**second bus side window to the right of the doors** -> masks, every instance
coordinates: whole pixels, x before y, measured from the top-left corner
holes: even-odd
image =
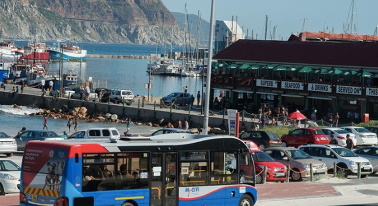
[[[238,183],[237,153],[211,154],[211,185]]]

